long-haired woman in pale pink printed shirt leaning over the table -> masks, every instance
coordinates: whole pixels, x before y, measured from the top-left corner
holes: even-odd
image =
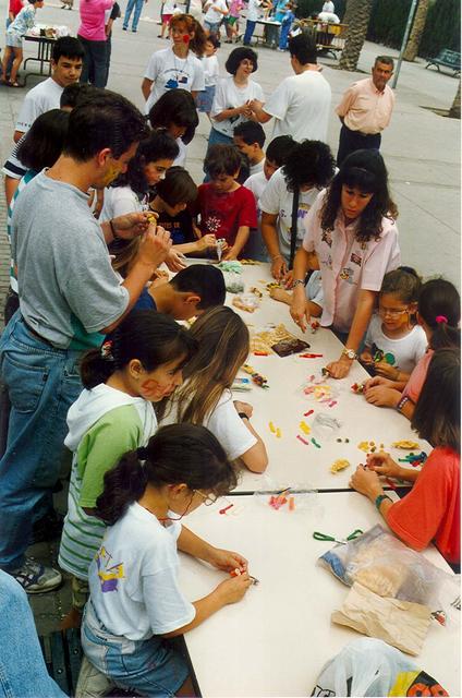
[[[345,344],[340,359],[326,366],[335,378],[348,375],[384,276],[401,263],[397,216],[387,168],[377,151],[352,153],[306,216],[305,237],[294,262],[290,312],[304,332],[309,312],[303,286],[315,261],[323,275],[320,324],[331,327]]]

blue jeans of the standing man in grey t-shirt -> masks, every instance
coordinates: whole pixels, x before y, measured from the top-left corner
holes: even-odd
[[[34,510],[56,484],[68,433],[66,414],[82,392],[81,353],[38,339],[16,312],[0,340],[0,376],[10,422],[0,460],[0,568],[21,566]]]

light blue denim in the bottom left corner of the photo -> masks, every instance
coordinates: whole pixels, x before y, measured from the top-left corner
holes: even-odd
[[[48,675],[26,592],[0,569],[0,697],[65,698]]]

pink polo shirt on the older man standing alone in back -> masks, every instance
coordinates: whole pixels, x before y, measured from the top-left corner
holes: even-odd
[[[360,80],[346,89],[336,109],[345,127],[361,133],[380,133],[390,123],[394,93],[388,85],[377,89],[372,77]]]

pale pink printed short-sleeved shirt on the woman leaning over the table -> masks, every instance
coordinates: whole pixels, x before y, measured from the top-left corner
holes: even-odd
[[[325,196],[326,190],[323,190],[305,217],[303,248],[316,252],[319,261],[324,290],[320,324],[349,332],[360,290],[379,291],[385,274],[401,263],[398,228],[391,218],[382,218],[380,236],[358,242],[355,239],[357,221],[345,226],[340,212],[332,232],[326,232],[319,215]]]

